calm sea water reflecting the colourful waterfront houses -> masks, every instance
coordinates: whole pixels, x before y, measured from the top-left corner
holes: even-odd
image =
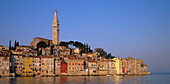
[[[0,84],[170,84],[170,74],[138,76],[3,77]]]

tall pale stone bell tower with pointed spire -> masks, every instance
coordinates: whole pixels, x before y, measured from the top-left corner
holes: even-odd
[[[57,9],[55,9],[54,13],[54,19],[52,23],[53,27],[53,44],[59,45],[59,21],[58,21],[58,16],[57,16]]]

